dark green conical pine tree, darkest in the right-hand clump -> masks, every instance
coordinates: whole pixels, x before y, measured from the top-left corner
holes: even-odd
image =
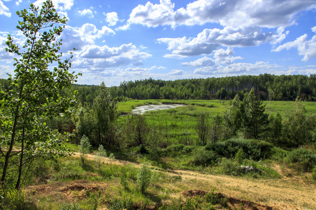
[[[243,108],[243,127],[246,138],[258,139],[260,134],[267,130],[268,114],[265,113],[265,105],[260,97],[255,94],[254,88],[245,94],[242,102]]]

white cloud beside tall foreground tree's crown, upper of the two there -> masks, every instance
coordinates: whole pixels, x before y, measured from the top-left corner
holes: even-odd
[[[66,26],[61,35],[64,40],[62,48],[65,50],[72,50],[73,48],[81,50],[85,45],[94,44],[95,39],[112,34],[115,34],[115,32],[107,26],[97,29],[96,26],[90,23],[85,23],[80,28]]]

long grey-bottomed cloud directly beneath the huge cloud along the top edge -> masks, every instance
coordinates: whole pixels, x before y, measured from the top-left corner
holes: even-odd
[[[167,43],[168,50],[176,55],[200,55],[211,54],[213,50],[223,46],[248,47],[258,46],[264,42],[273,42],[280,36],[272,32],[262,33],[259,27],[231,27],[226,26],[222,30],[204,29],[194,38],[159,38],[158,43]],[[170,57],[170,56],[169,56]]]

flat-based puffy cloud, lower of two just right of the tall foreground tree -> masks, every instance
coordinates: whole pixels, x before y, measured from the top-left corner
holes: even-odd
[[[90,45],[78,53],[79,59],[73,61],[73,68],[110,68],[140,63],[151,54],[140,52],[132,43],[120,47]]]

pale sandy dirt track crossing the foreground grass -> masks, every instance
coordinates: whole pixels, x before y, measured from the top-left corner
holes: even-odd
[[[79,156],[79,153],[75,153]],[[95,159],[94,155],[87,158]],[[109,163],[106,158],[105,163]],[[113,164],[139,164],[123,160],[114,160]],[[276,166],[277,167],[277,166]],[[255,179],[248,177],[235,177],[227,175],[202,174],[196,171],[168,170],[170,175],[180,175],[182,182],[180,189],[202,189],[210,191],[216,187],[216,192],[242,198],[246,201],[257,202],[261,205],[272,206],[281,210],[309,210],[316,209],[316,184],[309,183],[308,179],[301,177],[281,179]],[[182,186],[180,186],[182,185]],[[183,186],[185,185],[185,186]],[[180,195],[173,195],[179,197]]]

